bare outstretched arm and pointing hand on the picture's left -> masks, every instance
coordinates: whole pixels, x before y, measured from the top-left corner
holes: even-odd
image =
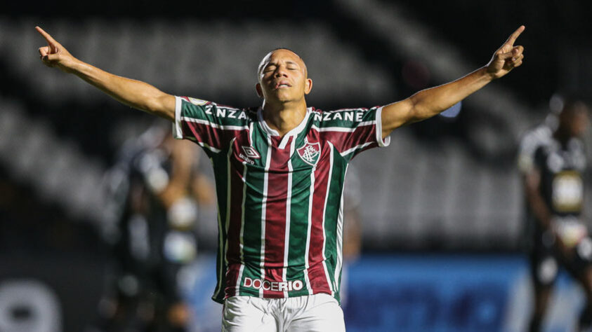
[[[134,109],[151,113],[167,120],[175,118],[175,97],[154,86],[121,76],[116,76],[93,67],[73,57],[60,43],[40,27],[37,32],[44,36],[47,46],[39,48],[41,61],[48,67],[58,67],[96,86],[119,102]]]

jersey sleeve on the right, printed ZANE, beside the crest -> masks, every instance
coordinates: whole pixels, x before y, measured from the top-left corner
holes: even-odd
[[[321,112],[319,131],[335,146],[339,153],[350,160],[369,148],[388,146],[390,137],[382,138],[382,107],[371,109],[340,109]]]

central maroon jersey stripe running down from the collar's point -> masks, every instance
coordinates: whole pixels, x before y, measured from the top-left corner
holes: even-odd
[[[290,137],[284,149],[277,148],[279,137],[272,137],[271,159],[268,173],[268,199],[265,208],[265,280],[282,281],[284,267],[284,238],[286,237],[286,200],[288,197],[288,160]],[[284,292],[263,289],[263,297],[283,298]]]

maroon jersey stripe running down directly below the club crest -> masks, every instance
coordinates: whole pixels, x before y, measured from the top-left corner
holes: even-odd
[[[322,149],[323,154],[318,162],[327,162],[329,164],[329,149],[327,144]],[[323,267],[323,244],[324,244],[324,206],[327,198],[327,189],[329,188],[329,169],[327,167],[317,167],[315,170],[315,192],[313,193],[313,207],[310,216],[310,244],[308,248],[308,279],[313,293],[331,293],[327,275]]]

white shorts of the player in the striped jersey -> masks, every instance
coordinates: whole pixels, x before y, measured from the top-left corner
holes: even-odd
[[[296,298],[232,296],[224,301],[223,332],[345,332],[343,310],[329,294]]]

